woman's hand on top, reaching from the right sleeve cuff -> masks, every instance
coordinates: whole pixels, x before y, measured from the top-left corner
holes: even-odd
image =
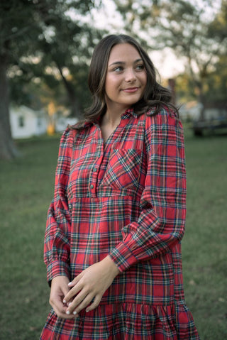
[[[77,316],[93,299],[94,302],[87,307],[86,312],[96,308],[104,292],[109,288],[118,273],[120,271],[109,256],[83,270],[68,285],[71,290],[65,295],[63,302],[65,304],[71,303],[67,307],[66,314],[68,316]]]

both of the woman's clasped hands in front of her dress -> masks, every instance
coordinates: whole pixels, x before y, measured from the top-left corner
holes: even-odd
[[[66,276],[57,276],[52,279],[50,305],[57,316],[64,319],[74,319],[84,308],[89,312],[98,307],[101,297],[118,273],[120,270],[106,256],[104,260],[84,269],[71,283]]]

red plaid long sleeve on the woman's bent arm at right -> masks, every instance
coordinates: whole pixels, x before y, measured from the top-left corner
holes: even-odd
[[[186,172],[181,123],[162,110],[148,116],[145,129],[148,170],[138,221],[123,227],[123,241],[109,256],[121,271],[170,251],[184,235]]]

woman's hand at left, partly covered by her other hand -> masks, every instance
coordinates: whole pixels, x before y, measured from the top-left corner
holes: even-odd
[[[57,317],[62,317],[63,319],[73,319],[74,315],[66,314],[68,305],[65,305],[63,298],[70,291],[68,283],[70,280],[67,276],[56,276],[52,279],[51,290],[50,290],[50,305],[55,310]]]

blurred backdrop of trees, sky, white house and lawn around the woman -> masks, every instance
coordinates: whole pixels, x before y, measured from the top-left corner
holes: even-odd
[[[60,135],[90,102],[110,33],[140,40],[184,124],[186,301],[201,340],[227,339],[227,1],[0,1],[0,339],[39,339],[48,314],[43,236]]]

